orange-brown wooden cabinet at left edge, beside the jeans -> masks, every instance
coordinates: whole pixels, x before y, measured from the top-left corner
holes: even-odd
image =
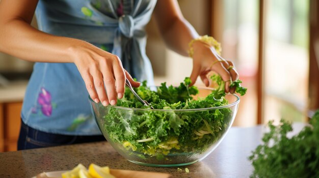
[[[16,151],[20,132],[22,102],[0,104],[0,152]]]

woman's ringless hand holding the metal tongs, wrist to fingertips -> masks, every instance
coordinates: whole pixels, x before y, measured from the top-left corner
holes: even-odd
[[[140,86],[123,68],[119,57],[112,53],[83,42],[70,48],[70,54],[95,102],[101,101],[104,106],[115,105],[117,97],[124,95],[125,78],[132,87]]]

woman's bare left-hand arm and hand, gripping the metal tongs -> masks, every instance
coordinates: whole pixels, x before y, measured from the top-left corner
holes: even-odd
[[[58,37],[33,28],[30,23],[38,0],[0,1],[0,51],[35,62],[74,62],[91,98],[103,105],[122,98],[125,76],[120,59],[85,41]],[[107,89],[105,93],[104,84]]]

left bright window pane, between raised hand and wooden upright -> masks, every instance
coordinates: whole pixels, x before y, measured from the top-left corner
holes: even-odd
[[[248,88],[234,125],[253,126],[257,121],[258,1],[225,0],[221,6],[222,56],[235,62],[243,86]]]

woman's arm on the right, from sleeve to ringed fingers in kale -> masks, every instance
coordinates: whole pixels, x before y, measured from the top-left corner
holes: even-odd
[[[155,20],[166,45],[173,51],[188,56],[188,44],[199,37],[194,27],[184,19],[176,0],[157,1],[154,9]],[[198,76],[208,86],[207,74],[215,70],[225,82],[225,91],[233,93],[235,88],[230,89],[231,80],[236,80],[238,74],[231,61],[226,61],[217,55],[214,47],[196,41],[193,43],[193,71],[191,74],[192,84],[195,84]],[[215,62],[220,60],[221,62]]]

